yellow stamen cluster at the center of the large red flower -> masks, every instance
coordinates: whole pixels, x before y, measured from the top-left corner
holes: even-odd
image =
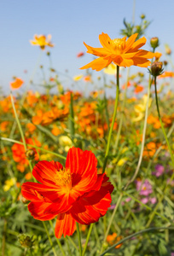
[[[70,169],[63,168],[59,172],[56,173],[55,183],[57,183],[61,187],[65,187],[67,189],[72,188],[72,175]]]

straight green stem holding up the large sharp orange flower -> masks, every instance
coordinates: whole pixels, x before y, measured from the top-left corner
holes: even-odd
[[[109,154],[111,137],[112,137],[112,133],[113,133],[113,125],[114,125],[115,118],[117,115],[118,103],[119,103],[119,66],[117,66],[117,90],[116,90],[115,105],[114,105],[114,110],[113,110],[113,119],[112,119],[112,124],[111,124],[110,130],[109,130],[109,135],[108,135],[108,139],[107,139],[107,149],[106,149],[104,164],[103,164],[103,168],[102,168],[102,173],[105,172],[105,169],[107,166],[107,158],[108,158],[108,154]]]

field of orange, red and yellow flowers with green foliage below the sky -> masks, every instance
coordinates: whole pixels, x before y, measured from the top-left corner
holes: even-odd
[[[42,92],[14,77],[0,96],[2,256],[174,255],[172,54],[141,19],[84,43],[93,59],[68,78],[82,90],[50,67]]]

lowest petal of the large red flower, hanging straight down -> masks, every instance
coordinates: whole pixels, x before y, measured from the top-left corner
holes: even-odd
[[[55,224],[55,236],[61,238],[62,234],[65,236],[72,236],[76,230],[76,221],[71,214],[62,213],[57,216]]]

